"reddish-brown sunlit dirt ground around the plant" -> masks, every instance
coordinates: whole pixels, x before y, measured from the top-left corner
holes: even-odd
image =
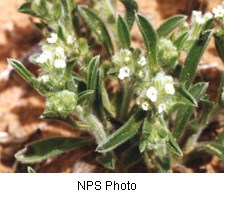
[[[138,0],[137,2],[139,11],[148,16],[153,25],[158,27],[165,18],[171,15],[190,14],[187,1],[189,0]],[[25,59],[27,54],[30,54],[29,51],[42,38],[41,33],[32,24],[33,19],[17,12],[16,9],[22,2],[24,0],[0,1],[0,172],[12,172],[15,169],[13,155],[28,141],[57,135],[76,136],[79,134],[77,130],[63,123],[39,119],[44,110],[43,97],[38,95],[15,72],[12,72],[8,78],[6,76],[8,68],[6,59],[18,58],[28,63]],[[220,2],[221,0],[209,1],[206,10],[210,11]],[[121,5],[120,10],[123,10]],[[134,28],[133,38],[134,41],[140,39],[137,27]],[[211,81],[209,94],[212,99],[215,99],[218,77],[221,76],[223,64],[217,56],[213,41],[204,54],[201,64],[201,78]],[[29,64],[29,69],[33,68],[34,66]],[[39,171],[84,172],[86,169],[95,171],[95,165],[87,164],[85,159],[80,160],[86,153],[87,150],[84,149],[76,150],[76,153],[65,154],[57,161],[50,162],[49,160],[40,166]],[[66,165],[56,165],[56,162],[65,163],[64,161],[67,161]],[[206,166],[206,171],[216,172],[218,162],[218,159],[213,158],[212,162]]]

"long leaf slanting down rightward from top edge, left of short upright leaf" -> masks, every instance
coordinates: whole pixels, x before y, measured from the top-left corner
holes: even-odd
[[[113,46],[109,33],[101,19],[89,8],[79,6],[82,18],[86,21],[90,29],[95,33],[98,40],[102,42],[108,54],[113,54]]]

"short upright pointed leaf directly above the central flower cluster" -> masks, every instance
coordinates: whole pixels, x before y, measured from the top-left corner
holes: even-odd
[[[126,21],[123,19],[121,15],[118,15],[117,19],[117,33],[118,33],[118,39],[119,42],[124,49],[130,48],[130,32],[128,29],[128,26],[126,24]]]

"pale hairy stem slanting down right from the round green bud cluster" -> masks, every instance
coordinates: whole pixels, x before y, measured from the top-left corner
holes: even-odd
[[[94,133],[97,144],[100,144],[106,139],[107,134],[102,123],[93,114],[85,115],[81,106],[77,106],[75,112],[78,118],[90,127],[90,130]]]

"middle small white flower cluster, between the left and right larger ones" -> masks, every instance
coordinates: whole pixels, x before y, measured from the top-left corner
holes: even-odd
[[[127,79],[131,76],[143,78],[147,60],[140,53],[133,53],[128,49],[122,49],[112,57],[112,62],[118,69],[118,78]]]

